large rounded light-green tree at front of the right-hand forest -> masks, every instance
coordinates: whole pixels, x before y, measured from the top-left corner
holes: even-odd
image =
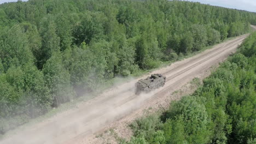
[[[193,97],[183,97],[171,105],[170,112],[166,113],[166,118],[183,116],[185,139],[189,143],[207,143],[207,112],[204,105],[198,104]]]

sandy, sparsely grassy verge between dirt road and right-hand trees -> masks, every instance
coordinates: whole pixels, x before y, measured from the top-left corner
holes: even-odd
[[[216,66],[218,66],[218,64]],[[206,70],[205,73],[197,77],[199,78],[199,83],[193,83],[190,81],[184,86],[182,86],[181,89],[173,92],[170,95],[166,95],[165,97],[160,97],[158,99],[151,100],[151,102],[150,100],[148,100],[150,104],[143,105],[141,109],[136,110],[130,115],[127,115],[119,119],[118,121],[115,121],[109,124],[106,128],[104,128],[101,131],[98,131],[94,135],[91,135],[90,137],[85,137],[83,135],[80,135],[78,137],[75,137],[72,140],[69,140],[67,143],[118,144],[120,143],[120,140],[129,141],[131,136],[133,135],[132,129],[129,127],[129,125],[133,121],[135,121],[135,119],[146,117],[152,113],[159,113],[159,112],[161,113],[166,111],[170,106],[170,101],[179,100],[184,95],[193,94],[193,92],[195,92],[195,90],[201,85],[202,80],[210,74],[211,74],[211,71]]]

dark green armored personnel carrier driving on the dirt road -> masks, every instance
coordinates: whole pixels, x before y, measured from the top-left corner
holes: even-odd
[[[147,79],[139,80],[136,86],[136,94],[140,94],[141,92],[150,92],[153,89],[163,87],[165,85],[166,77],[161,74],[152,74]]]

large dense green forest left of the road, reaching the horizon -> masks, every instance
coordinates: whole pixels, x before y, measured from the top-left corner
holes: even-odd
[[[0,19],[0,134],[256,25],[248,11],[167,0],[18,1]]]

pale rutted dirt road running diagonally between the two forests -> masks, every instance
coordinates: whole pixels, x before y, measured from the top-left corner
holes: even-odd
[[[242,35],[218,44],[199,55],[153,71],[153,73],[164,74],[167,81],[164,87],[152,93],[135,95],[134,83],[138,79],[132,80],[113,87],[94,99],[80,103],[75,109],[19,131],[16,135],[1,140],[0,143],[78,143],[75,137],[82,136],[84,139],[94,134],[117,119],[140,109],[150,99],[158,99],[172,93],[196,75],[210,69],[212,65],[222,62],[247,36],[248,34]]]

